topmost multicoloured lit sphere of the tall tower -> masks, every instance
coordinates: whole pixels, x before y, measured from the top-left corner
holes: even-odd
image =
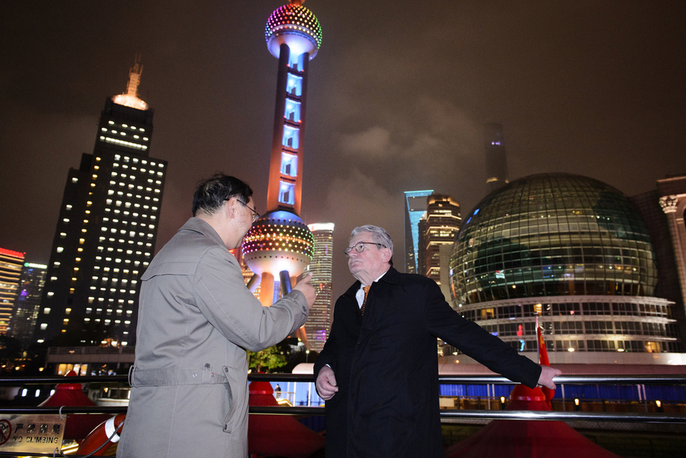
[[[275,9],[267,19],[265,27],[267,48],[272,56],[279,58],[281,44],[287,44],[291,53],[300,56],[310,53],[310,60],[317,56],[322,46],[322,26],[312,11],[292,1],[288,5]]]

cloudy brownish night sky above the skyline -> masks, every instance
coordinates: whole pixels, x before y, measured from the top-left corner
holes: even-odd
[[[0,246],[47,263],[70,167],[92,153],[105,98],[155,110],[169,163],[158,242],[197,182],[246,180],[266,210],[277,59],[265,23],[285,0],[36,1],[0,8]],[[303,211],[336,223],[334,294],[352,227],[377,224],[403,265],[403,191],[485,196],[483,125],[504,125],[509,178],[569,172],[629,196],[686,172],[686,1],[332,1],[305,4],[310,62]]]

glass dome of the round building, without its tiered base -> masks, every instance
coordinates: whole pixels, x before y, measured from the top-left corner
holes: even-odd
[[[537,174],[488,194],[462,224],[450,260],[460,305],[564,295],[652,296],[648,229],[609,184]]]

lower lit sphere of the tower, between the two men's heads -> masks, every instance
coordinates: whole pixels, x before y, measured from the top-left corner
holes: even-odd
[[[314,245],[312,232],[298,215],[276,210],[253,223],[243,239],[243,258],[260,276],[269,272],[279,278],[284,270],[298,276],[310,264]]]

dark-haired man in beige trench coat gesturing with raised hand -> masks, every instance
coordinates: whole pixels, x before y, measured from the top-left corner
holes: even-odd
[[[226,175],[203,182],[193,217],[142,276],[136,360],[120,458],[248,454],[246,349],[279,343],[307,320],[305,277],[262,307],[229,249],[258,212],[250,186]]]

